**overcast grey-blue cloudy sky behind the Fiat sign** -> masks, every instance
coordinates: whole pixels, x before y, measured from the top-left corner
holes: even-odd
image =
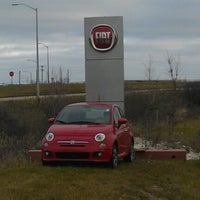
[[[50,76],[67,70],[71,82],[85,81],[84,18],[123,16],[126,80],[144,80],[152,62],[152,79],[169,79],[167,52],[179,60],[179,77],[200,80],[199,0],[1,0],[0,84],[35,81],[35,12],[39,41],[49,47]],[[39,45],[46,80],[46,48]],[[29,60],[29,61],[27,61]],[[30,61],[31,60],[31,61]],[[41,74],[41,71],[40,71]]]

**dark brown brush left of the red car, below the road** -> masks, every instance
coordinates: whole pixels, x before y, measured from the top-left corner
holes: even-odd
[[[19,160],[29,149],[40,148],[46,133],[48,118],[74,102],[84,101],[83,96],[42,98],[9,101],[0,104],[0,163]]]

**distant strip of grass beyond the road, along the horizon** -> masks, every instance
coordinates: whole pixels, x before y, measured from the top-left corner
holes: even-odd
[[[125,90],[172,88],[171,81],[125,81]],[[178,82],[178,87],[183,87],[184,82]],[[85,83],[70,84],[40,84],[41,95],[51,94],[72,94],[85,92]],[[0,98],[14,96],[34,96],[36,95],[36,85],[6,85],[0,86]]]

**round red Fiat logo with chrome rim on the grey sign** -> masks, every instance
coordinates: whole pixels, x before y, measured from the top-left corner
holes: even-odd
[[[90,42],[97,51],[109,51],[117,42],[117,34],[111,26],[100,24],[92,28]]]

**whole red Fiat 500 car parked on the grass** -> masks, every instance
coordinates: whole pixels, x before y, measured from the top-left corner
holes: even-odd
[[[119,106],[76,103],[64,107],[42,140],[42,162],[94,161],[117,167],[134,160],[134,137]]]

